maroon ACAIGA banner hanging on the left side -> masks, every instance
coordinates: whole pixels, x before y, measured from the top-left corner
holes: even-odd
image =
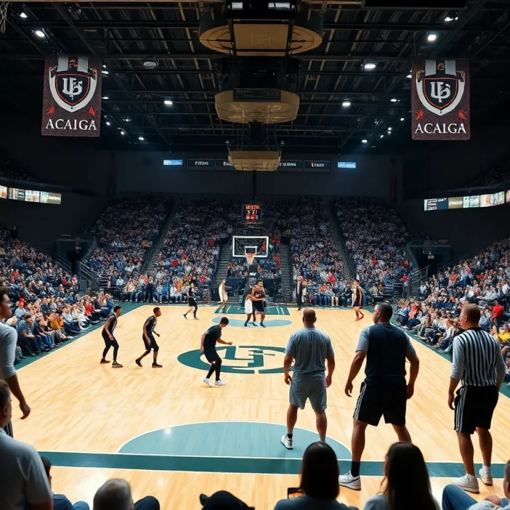
[[[44,65],[41,133],[98,137],[101,59],[48,55]]]

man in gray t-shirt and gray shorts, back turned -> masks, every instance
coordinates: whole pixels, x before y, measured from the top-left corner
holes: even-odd
[[[335,354],[331,340],[315,327],[315,310],[303,310],[304,327],[291,335],[285,351],[285,382],[290,385],[290,405],[287,411],[287,433],[282,436],[282,444],[292,449],[293,430],[297,421],[297,409],[304,409],[307,399],[317,416],[317,430],[320,441],[326,441],[326,388],[331,386],[331,377],[335,370]],[[294,376],[290,368],[294,360]],[[325,360],[327,360],[327,376]]]

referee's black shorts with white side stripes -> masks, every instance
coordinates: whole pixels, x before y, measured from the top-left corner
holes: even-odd
[[[464,434],[477,427],[489,430],[498,397],[495,386],[461,386],[455,397],[454,429]]]

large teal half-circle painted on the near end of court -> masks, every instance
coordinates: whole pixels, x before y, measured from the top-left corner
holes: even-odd
[[[122,445],[118,453],[229,458],[303,458],[305,448],[319,440],[317,432],[294,429],[295,448],[287,450],[280,438],[283,424],[249,421],[188,423],[147,432]],[[345,445],[327,438],[337,457],[351,458]]]

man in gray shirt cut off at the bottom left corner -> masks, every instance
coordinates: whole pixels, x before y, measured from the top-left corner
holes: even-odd
[[[11,392],[7,382],[0,379],[0,508],[53,510],[41,457],[32,446],[9,437],[3,428],[11,420],[11,412]]]

